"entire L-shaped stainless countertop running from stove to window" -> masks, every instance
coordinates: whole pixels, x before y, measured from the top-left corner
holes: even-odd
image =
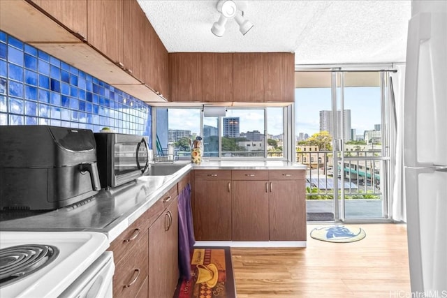
[[[176,162],[175,164],[182,163]],[[142,176],[117,188],[101,190],[71,207],[36,216],[2,221],[3,231],[89,231],[106,234],[113,241],[147,211],[166,191],[192,170],[306,170],[300,163],[285,161],[204,161],[185,166],[168,176]]]

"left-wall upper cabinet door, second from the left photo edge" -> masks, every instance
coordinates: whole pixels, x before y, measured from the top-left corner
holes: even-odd
[[[87,0],[87,42],[120,66],[124,66],[123,2]]]

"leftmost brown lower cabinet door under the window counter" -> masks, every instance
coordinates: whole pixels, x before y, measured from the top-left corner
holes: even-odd
[[[231,180],[194,181],[193,221],[196,240],[231,240],[230,191]]]

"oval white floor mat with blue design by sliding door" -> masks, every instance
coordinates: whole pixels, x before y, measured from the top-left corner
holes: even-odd
[[[323,228],[314,228],[310,232],[310,237],[321,241],[347,243],[365,238],[366,233],[362,228],[346,228],[344,225],[330,225]]]

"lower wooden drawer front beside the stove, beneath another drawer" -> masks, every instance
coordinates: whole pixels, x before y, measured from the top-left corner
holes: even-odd
[[[119,262],[115,262],[113,297],[135,297],[147,279],[149,264],[149,234],[145,230],[132,250]]]

